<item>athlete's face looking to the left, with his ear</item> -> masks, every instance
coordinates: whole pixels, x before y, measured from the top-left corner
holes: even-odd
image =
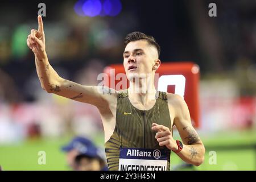
[[[154,46],[148,44],[147,40],[130,42],[123,52],[123,67],[127,78],[144,77],[152,74],[159,67],[160,60]],[[154,69],[156,68],[156,69]]]

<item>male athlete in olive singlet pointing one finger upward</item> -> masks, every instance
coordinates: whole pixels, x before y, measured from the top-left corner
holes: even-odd
[[[205,148],[191,125],[187,104],[176,94],[155,89],[160,47],[154,38],[141,32],[126,36],[123,67],[130,86],[121,91],[108,88],[106,93],[99,92],[101,86],[80,85],[60,77],[47,58],[41,16],[38,26],[28,35],[27,45],[35,54],[41,86],[48,93],[98,108],[109,170],[170,170],[171,151],[187,163],[203,163]],[[182,142],[172,138],[174,125]]]

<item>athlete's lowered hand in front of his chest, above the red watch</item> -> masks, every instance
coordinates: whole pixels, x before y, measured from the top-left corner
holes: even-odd
[[[158,125],[156,123],[152,123],[153,131],[158,131],[155,134],[156,140],[159,142],[159,146],[166,146],[170,150],[177,150],[179,147],[177,146],[176,140],[172,138],[172,133],[170,129],[163,125]]]

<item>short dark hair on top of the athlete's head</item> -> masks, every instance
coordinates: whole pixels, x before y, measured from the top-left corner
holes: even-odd
[[[146,35],[142,32],[131,32],[125,38],[125,46],[130,42],[137,41],[137,40],[147,40],[148,44],[154,46],[158,50],[158,57],[160,55],[160,46],[156,43],[155,39],[152,36]]]

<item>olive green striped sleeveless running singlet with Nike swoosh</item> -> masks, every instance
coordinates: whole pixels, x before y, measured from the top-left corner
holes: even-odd
[[[110,171],[118,170],[121,147],[166,149],[167,170],[170,170],[171,151],[166,146],[159,146],[155,139],[156,131],[151,130],[152,123],[166,126],[172,131],[165,92],[156,92],[156,102],[150,110],[139,110],[134,107],[128,98],[127,90],[122,90],[118,94],[115,129],[110,139],[105,143]]]

